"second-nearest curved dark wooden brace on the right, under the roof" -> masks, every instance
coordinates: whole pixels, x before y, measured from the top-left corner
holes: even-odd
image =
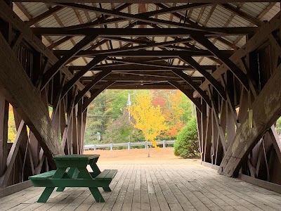
[[[206,71],[206,69],[204,69],[200,64],[198,64],[196,60],[194,60],[190,56],[181,56],[181,60],[183,60],[185,63],[190,64],[193,68],[195,68],[195,70],[200,72],[211,83],[211,85],[216,89],[216,91],[218,91],[218,94],[220,94],[221,97],[226,100],[226,91],[224,90],[223,86],[216,79],[214,79],[214,77],[212,77],[209,72]]]

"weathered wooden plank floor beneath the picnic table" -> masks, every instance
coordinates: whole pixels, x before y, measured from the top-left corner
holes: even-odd
[[[112,192],[96,203],[87,188],[53,192],[37,203],[43,188],[0,198],[0,210],[281,210],[281,194],[217,174],[202,165],[99,165],[117,169]]]

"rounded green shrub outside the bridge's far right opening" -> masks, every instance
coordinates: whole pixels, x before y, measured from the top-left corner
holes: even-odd
[[[174,143],[174,154],[181,158],[200,158],[195,118],[190,120],[178,133]]]

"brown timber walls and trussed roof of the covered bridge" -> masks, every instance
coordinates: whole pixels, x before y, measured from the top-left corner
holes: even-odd
[[[179,89],[202,162],[281,192],[280,2],[127,2],[0,0],[1,188],[83,153],[87,106],[105,89]]]

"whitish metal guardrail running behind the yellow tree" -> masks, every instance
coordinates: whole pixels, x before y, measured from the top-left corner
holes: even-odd
[[[156,141],[157,145],[163,145],[163,148],[166,147],[166,144],[173,144],[175,143],[174,140],[164,140],[164,141]],[[114,147],[118,146],[126,146],[128,150],[131,149],[131,146],[145,146],[145,148],[148,148],[148,145],[150,145],[151,142],[149,141],[142,141],[142,142],[127,142],[127,143],[103,143],[103,144],[90,144],[90,145],[84,145],[84,150],[96,150],[98,148],[110,148],[110,151],[113,150]]]

